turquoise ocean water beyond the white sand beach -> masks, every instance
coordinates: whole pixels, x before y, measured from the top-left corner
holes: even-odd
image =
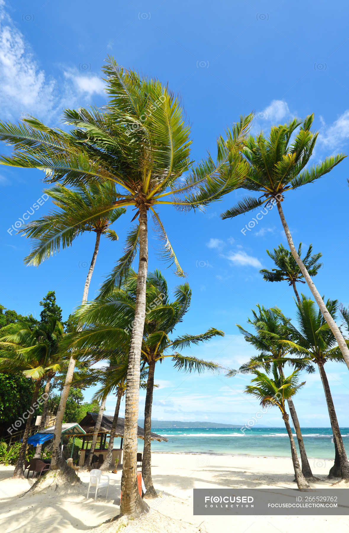
[[[198,429],[153,429],[168,442],[152,441],[153,451],[175,453],[245,454],[289,457],[290,444],[285,427],[256,428],[243,434],[239,428],[200,427]],[[344,446],[349,452],[349,428],[341,428]],[[331,429],[307,427],[302,429],[308,457],[332,459],[335,456]],[[294,434],[298,448],[296,435]],[[139,442],[142,451],[143,442]]]

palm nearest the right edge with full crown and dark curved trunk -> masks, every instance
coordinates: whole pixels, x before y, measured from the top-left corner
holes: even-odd
[[[331,315],[336,318],[338,310],[337,300],[328,300],[326,306]],[[288,321],[288,327],[290,328],[293,340],[283,340],[281,342],[290,346],[299,356],[311,359],[319,368],[332,433],[339,455],[341,475],[343,479],[349,479],[349,463],[345,453],[342,434],[339,430],[328,378],[324,369],[327,361],[343,362],[343,356],[322,313],[320,311],[316,312],[315,303],[304,295],[302,295],[301,304],[297,304],[297,319],[299,324],[298,329]]]

